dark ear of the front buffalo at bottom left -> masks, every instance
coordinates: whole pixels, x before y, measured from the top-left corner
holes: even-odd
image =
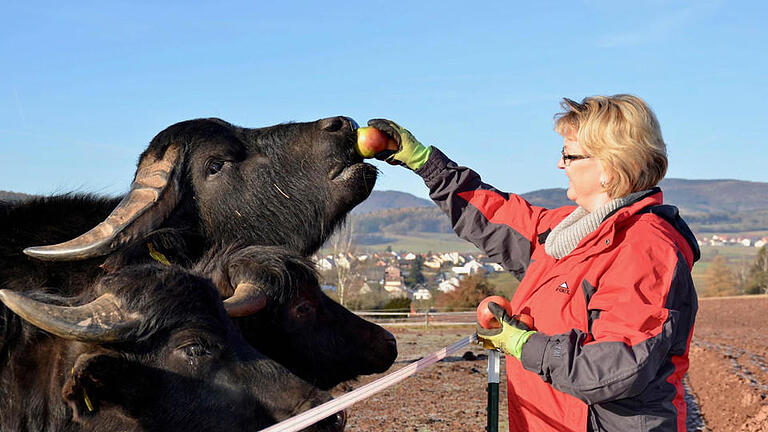
[[[81,354],[61,389],[61,397],[72,409],[74,420],[82,423],[99,410],[109,408],[130,412],[141,395],[137,387],[125,380],[132,373],[128,369],[129,362],[106,352]]]

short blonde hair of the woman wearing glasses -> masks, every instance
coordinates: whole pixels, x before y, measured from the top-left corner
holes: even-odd
[[[575,138],[611,176],[603,186],[611,198],[656,186],[667,173],[667,146],[651,108],[637,96],[563,98],[555,131]]]

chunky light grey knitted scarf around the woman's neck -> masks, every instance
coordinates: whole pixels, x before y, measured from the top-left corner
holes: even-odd
[[[552,228],[552,232],[549,233],[546,242],[544,242],[544,250],[547,255],[556,259],[568,255],[576,249],[581,239],[600,226],[608,213],[634,202],[647,193],[647,190],[639,191],[613,199],[596,208],[592,213],[583,207],[576,208],[573,213]]]

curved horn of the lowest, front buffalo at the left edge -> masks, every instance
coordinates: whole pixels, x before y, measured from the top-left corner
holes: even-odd
[[[82,306],[57,306],[3,289],[0,301],[35,327],[81,342],[123,341],[139,321],[136,314],[123,312],[112,294]]]

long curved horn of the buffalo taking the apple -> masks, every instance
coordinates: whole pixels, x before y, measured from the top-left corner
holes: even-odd
[[[128,195],[87,233],[64,243],[29,247],[24,253],[45,261],[82,260],[105,255],[155,229],[179,200],[178,180],[173,175],[179,154],[179,146],[174,144],[162,158],[145,156]]]

